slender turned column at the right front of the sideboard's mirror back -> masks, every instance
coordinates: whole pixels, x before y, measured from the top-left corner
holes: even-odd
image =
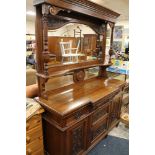
[[[111,38],[110,38],[110,50],[109,50],[109,63],[111,63],[111,55],[113,53],[113,34],[114,34],[114,26],[115,26],[115,23],[108,23],[110,28],[111,28]]]

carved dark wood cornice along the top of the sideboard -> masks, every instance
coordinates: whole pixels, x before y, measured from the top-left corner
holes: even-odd
[[[120,16],[120,14],[88,0],[34,0],[33,4],[45,3],[111,22],[115,22]]]

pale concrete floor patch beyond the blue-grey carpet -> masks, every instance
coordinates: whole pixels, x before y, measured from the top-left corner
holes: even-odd
[[[125,127],[125,124],[120,122],[118,127],[113,128],[109,132],[109,135],[129,139],[129,128]]]

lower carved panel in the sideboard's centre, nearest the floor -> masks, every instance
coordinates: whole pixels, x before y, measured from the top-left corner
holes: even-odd
[[[103,120],[92,126],[91,141],[94,141],[98,136],[106,132],[108,127],[107,122],[108,117],[104,118]]]

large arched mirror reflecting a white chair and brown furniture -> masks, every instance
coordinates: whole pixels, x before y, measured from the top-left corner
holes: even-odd
[[[70,23],[48,31],[49,52],[56,62],[78,62],[97,58],[97,34],[89,26]],[[99,46],[99,45],[98,45]]]

